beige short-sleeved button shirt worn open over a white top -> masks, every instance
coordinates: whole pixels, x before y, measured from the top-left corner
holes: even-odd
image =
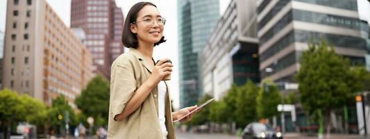
[[[161,139],[163,133],[158,120],[158,87],[153,88],[148,97],[136,111],[121,122],[113,118],[124,110],[128,100],[151,75],[149,61],[140,51],[130,48],[121,54],[112,64],[110,75],[110,106],[108,120],[108,138]],[[166,82],[165,82],[166,83]],[[166,83],[167,85],[167,83]],[[174,125],[171,116],[169,88],[165,97],[165,118],[167,138],[174,139]]]

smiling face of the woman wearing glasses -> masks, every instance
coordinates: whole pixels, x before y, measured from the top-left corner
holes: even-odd
[[[159,42],[163,35],[164,24],[162,17],[154,6],[144,6],[134,24],[131,24],[131,31],[136,33],[137,39],[146,43]]]

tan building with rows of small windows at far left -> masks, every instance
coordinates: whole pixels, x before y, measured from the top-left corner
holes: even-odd
[[[92,54],[44,0],[9,0],[3,87],[51,105],[74,99],[92,78]]]

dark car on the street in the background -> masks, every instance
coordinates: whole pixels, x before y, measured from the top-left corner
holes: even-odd
[[[283,134],[274,131],[269,124],[253,122],[243,130],[243,139],[283,139]]]

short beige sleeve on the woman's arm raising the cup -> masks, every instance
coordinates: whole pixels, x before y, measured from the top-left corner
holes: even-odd
[[[130,63],[115,64],[110,76],[110,115],[122,113],[136,91],[136,80]]]

